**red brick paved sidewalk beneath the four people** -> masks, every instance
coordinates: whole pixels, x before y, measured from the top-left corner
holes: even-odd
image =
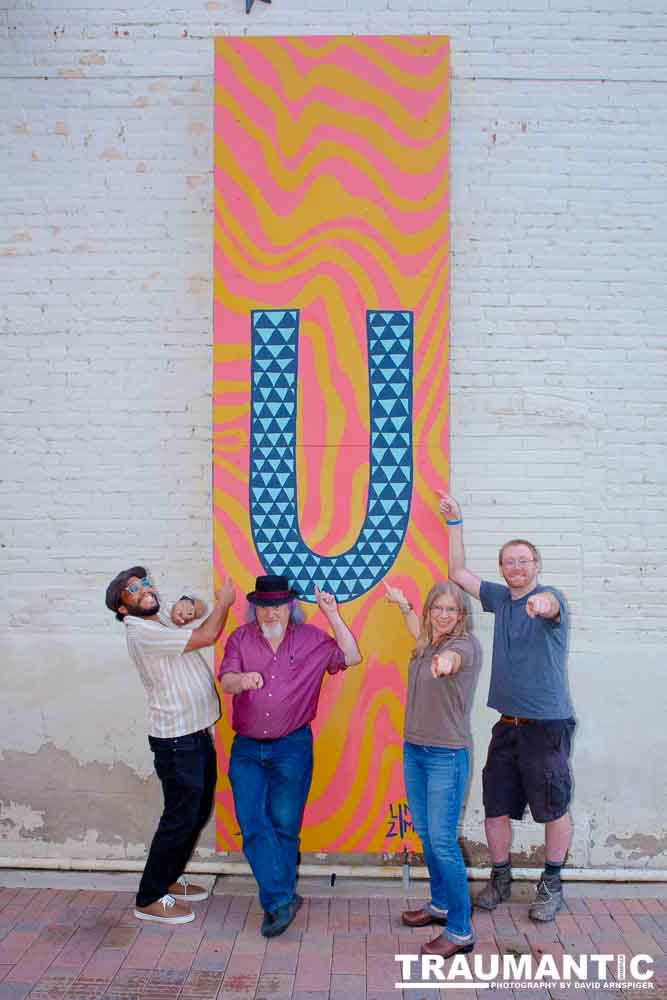
[[[308,898],[292,927],[267,941],[259,934],[262,914],[248,894],[249,881],[241,892],[242,880],[219,879],[210,899],[193,904],[196,920],[173,930],[135,920],[133,893],[127,889],[27,888],[4,881],[0,1000],[424,1000],[443,995],[475,1000],[485,995],[474,989],[395,988],[400,966],[394,955],[418,952],[434,933],[401,925],[401,911],[420,902],[402,897],[396,885],[385,895],[371,883],[362,889],[366,895],[358,889],[346,894],[342,879],[331,892],[307,887]],[[54,883],[62,884],[62,876]],[[40,884],[48,884],[45,873]],[[539,926],[527,916],[530,887],[517,884],[516,901],[492,915],[475,916],[475,954],[532,953],[537,961],[542,954],[558,959],[564,953],[645,953],[655,959],[651,992],[605,987],[600,995],[665,1000],[665,887],[651,896],[641,886],[632,896],[629,887],[620,886],[612,897],[609,888],[573,886],[567,911],[555,924]],[[424,891],[415,887],[422,900]],[[594,990],[583,992],[590,1000]],[[502,994],[562,1000],[574,989],[503,989]]]

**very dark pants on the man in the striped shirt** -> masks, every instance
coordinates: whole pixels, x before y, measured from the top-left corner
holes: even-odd
[[[139,883],[137,906],[150,906],[183,874],[213,807],[218,768],[208,730],[162,739],[149,736],[162,782],[164,811]]]

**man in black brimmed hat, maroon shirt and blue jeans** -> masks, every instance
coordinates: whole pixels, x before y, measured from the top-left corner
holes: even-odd
[[[361,661],[335,598],[315,588],[332,638],[300,623],[298,596],[287,577],[257,577],[247,595],[255,620],[230,634],[218,674],[221,689],[234,695],[229,779],[265,937],[282,934],[301,904],[299,832],[313,774],[310,723],[324,675]]]

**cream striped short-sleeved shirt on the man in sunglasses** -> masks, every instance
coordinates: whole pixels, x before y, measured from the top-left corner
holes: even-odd
[[[207,729],[220,718],[220,702],[208,663],[198,651],[184,653],[192,629],[125,616],[127,648],[146,689],[148,733],[170,738]]]

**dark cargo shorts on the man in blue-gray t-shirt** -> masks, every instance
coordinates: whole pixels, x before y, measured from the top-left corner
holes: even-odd
[[[536,823],[549,823],[567,812],[574,726],[574,719],[496,722],[482,771],[486,816],[521,819],[529,805]]]

